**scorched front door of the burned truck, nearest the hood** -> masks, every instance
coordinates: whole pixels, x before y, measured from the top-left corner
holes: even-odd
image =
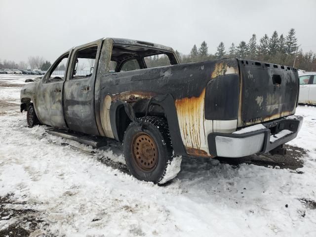
[[[44,124],[67,128],[64,115],[62,92],[71,50],[60,56],[40,79],[35,107]]]

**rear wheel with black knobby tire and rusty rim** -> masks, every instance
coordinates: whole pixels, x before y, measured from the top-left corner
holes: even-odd
[[[168,124],[165,118],[156,116],[147,116],[141,120],[143,126],[131,122],[124,134],[123,153],[126,165],[135,178],[161,183],[168,164],[174,158]]]

